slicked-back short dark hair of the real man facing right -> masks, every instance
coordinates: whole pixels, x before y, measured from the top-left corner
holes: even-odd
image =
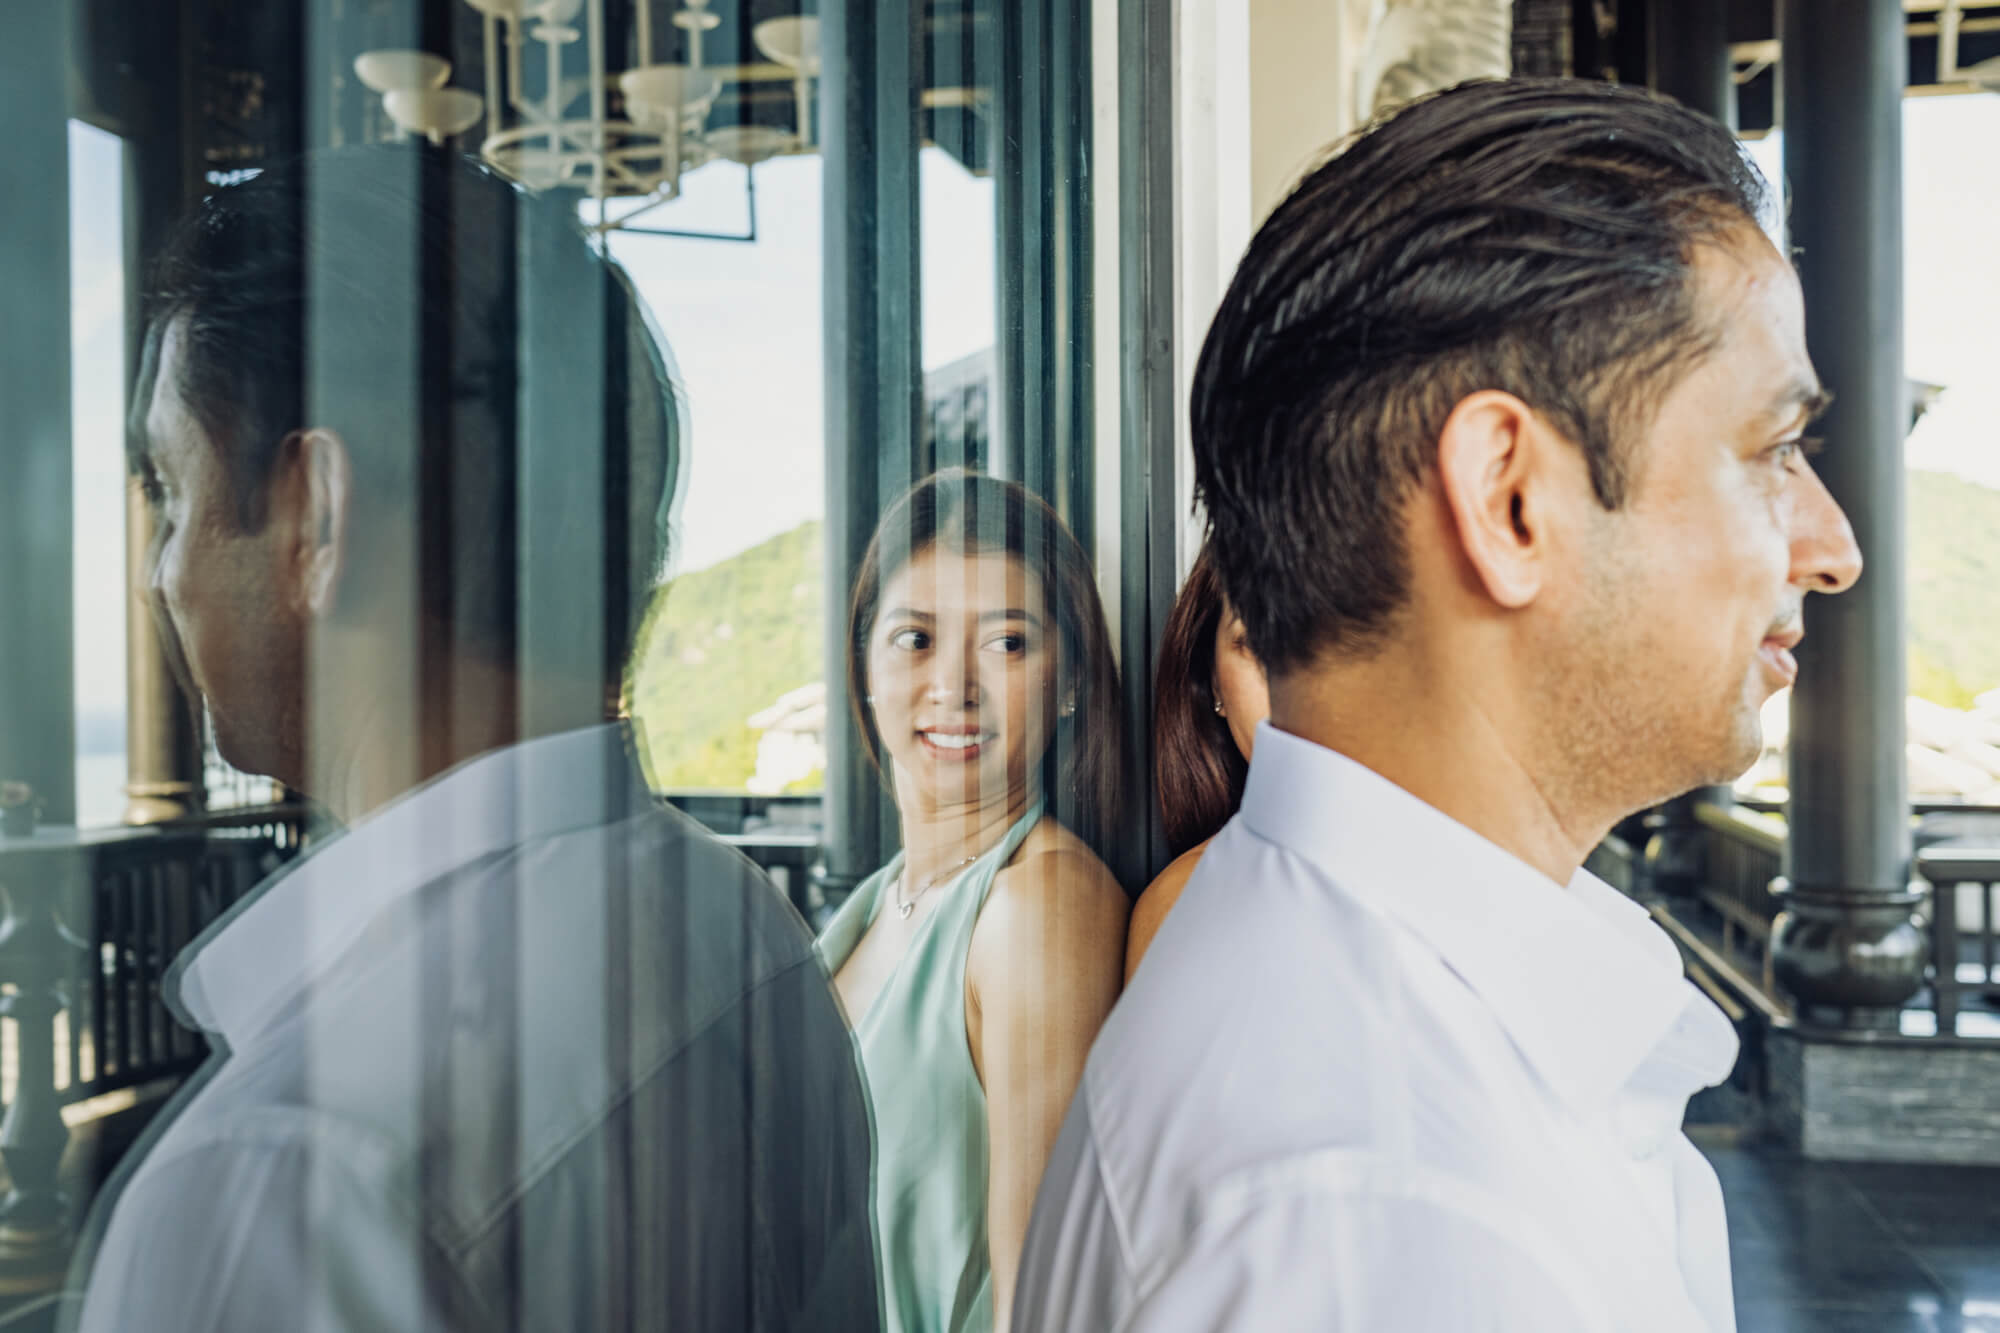
[[[1516,394],[1624,504],[1664,392],[1718,336],[1704,240],[1768,216],[1714,120],[1584,80],[1494,80],[1352,138],[1250,242],[1194,374],[1196,494],[1272,675],[1380,646],[1404,498],[1452,406]]]

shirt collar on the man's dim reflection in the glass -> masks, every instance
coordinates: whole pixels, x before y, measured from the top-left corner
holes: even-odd
[[[174,959],[164,999],[182,1023],[240,1043],[402,897],[482,857],[654,805],[624,723],[488,751],[244,895]]]

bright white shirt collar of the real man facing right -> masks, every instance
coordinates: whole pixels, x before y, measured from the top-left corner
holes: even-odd
[[[1646,909],[1588,871],[1556,885],[1378,773],[1270,723],[1258,725],[1242,821],[1436,951],[1578,1111],[1602,1109],[1656,1051],[1682,1075],[1682,1099],[1728,1077],[1728,1021]]]

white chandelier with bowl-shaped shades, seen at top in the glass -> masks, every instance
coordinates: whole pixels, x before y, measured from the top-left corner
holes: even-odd
[[[788,152],[812,152],[812,80],[820,74],[820,24],[810,16],[768,18],[750,38],[770,66],[706,68],[702,34],[720,24],[710,0],[686,0],[672,24],[686,32],[686,62],[654,60],[652,0],[636,0],[638,64],[622,74],[604,68],[604,0],[466,0],[484,22],[486,96],[450,88],[452,64],[422,50],[370,50],[354,74],[382,94],[382,108],[404,134],[434,144],[464,134],[482,118],[480,156],[536,188],[580,188],[600,202],[600,230],[616,230],[642,212],[678,198],[680,178],[712,160],[754,166]],[[576,26],[582,16],[582,28]],[[584,78],[564,78],[562,52],[586,44]],[[530,44],[540,46],[530,54]],[[504,52],[504,54],[502,54]],[[544,90],[526,90],[530,60],[546,66]],[[706,128],[724,82],[790,78],[796,134],[774,126]],[[616,80],[624,116],[608,112]],[[604,200],[632,198],[638,208],[616,218]]]

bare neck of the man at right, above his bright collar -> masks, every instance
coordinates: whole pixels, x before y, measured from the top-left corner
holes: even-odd
[[[1558,885],[1614,823],[1562,809],[1506,719],[1450,673],[1408,654],[1272,681],[1270,721],[1346,755]]]

